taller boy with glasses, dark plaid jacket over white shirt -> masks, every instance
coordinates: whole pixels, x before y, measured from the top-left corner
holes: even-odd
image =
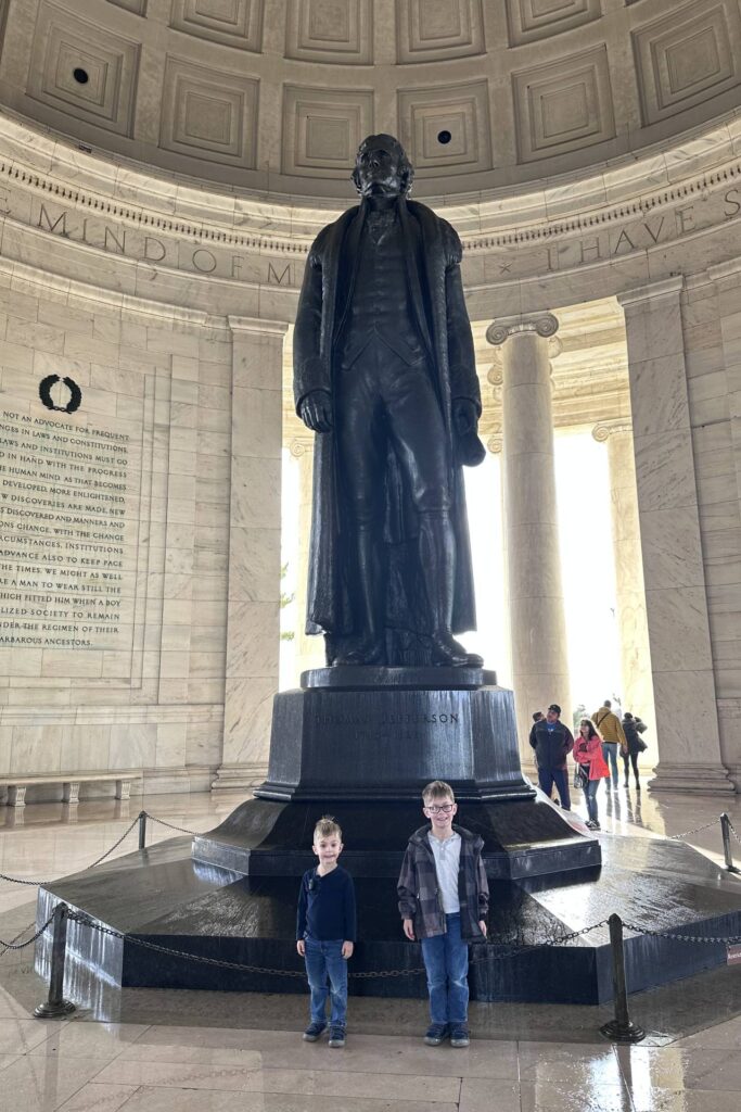
[[[489,911],[483,840],[453,826],[458,805],[450,784],[428,784],[422,802],[430,826],[409,840],[399,875],[399,912],[407,937],[422,943],[430,993],[424,1042],[439,1046],[450,1035],[451,1046],[468,1046],[468,940],[485,939]]]

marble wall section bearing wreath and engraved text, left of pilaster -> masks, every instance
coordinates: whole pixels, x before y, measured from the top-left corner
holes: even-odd
[[[67,285],[0,265],[0,777],[136,770],[149,791],[204,788],[222,757],[231,335]],[[52,375],[79,387],[73,413],[43,404]],[[124,437],[117,484],[108,445]],[[113,497],[107,481],[126,485],[120,533],[90,500]]]

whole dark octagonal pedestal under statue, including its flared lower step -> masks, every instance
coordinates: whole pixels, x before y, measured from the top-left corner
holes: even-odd
[[[522,775],[512,692],[481,668],[318,668],[273,702],[257,798],[193,838],[193,858],[244,876],[301,876],[322,814],[342,826],[354,876],[399,875],[425,822],[422,788],[451,785],[458,820],[484,841],[492,878],[600,865],[600,844]]]

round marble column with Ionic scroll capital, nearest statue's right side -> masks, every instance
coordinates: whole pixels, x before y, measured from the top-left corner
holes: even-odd
[[[507,317],[487,330],[501,346],[502,465],[512,685],[521,752],[533,711],[558,703],[571,727],[553,458],[550,312]]]

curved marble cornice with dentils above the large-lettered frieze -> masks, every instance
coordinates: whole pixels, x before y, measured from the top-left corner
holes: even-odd
[[[469,251],[550,245],[554,239],[594,235],[635,220],[660,220],[662,210],[707,199],[711,190],[738,193],[728,216],[739,211],[741,160],[737,113],[697,129],[681,140],[657,145],[639,158],[622,158],[583,172],[560,175],[543,188],[507,189],[425,198],[451,220]],[[322,205],[297,195],[249,195],[198,188],[178,175],[156,177],[123,157],[92,157],[71,143],[0,117],[0,180],[48,202],[122,227],[176,235],[229,248],[306,255],[317,232],[353,199]],[[688,172],[689,171],[689,172]],[[0,208],[6,210],[7,205]],[[21,216],[14,219],[23,221]],[[721,216],[717,222],[722,222]],[[680,228],[680,234],[689,229]],[[680,235],[681,238],[681,235]],[[649,241],[650,246],[650,241]]]

